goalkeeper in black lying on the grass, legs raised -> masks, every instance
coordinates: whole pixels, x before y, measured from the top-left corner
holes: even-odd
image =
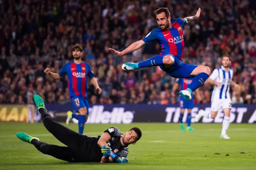
[[[141,130],[137,127],[125,132],[124,136],[117,127],[108,128],[98,137],[78,134],[55,122],[46,111],[44,101],[40,96],[34,95],[34,101],[42,116],[44,127],[66,146],[47,144],[24,132],[18,132],[16,136],[24,142],[33,144],[43,154],[48,154],[60,160],[68,162],[128,163],[126,158],[128,145],[135,144],[142,136]]]

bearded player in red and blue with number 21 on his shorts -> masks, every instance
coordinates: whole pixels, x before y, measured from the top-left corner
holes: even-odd
[[[76,44],[72,47],[74,61],[66,63],[59,73],[52,73],[49,68],[46,68],[44,72],[50,75],[54,79],[60,79],[60,77],[68,75],[68,89],[70,95],[70,101],[76,113],[68,112],[67,124],[72,118],[78,120],[78,132],[83,134],[84,124],[89,115],[89,103],[87,93],[87,81],[88,77],[91,79],[92,84],[98,90],[98,94],[102,93],[102,89],[99,87],[95,75],[90,65],[81,60],[83,48],[80,44]]]

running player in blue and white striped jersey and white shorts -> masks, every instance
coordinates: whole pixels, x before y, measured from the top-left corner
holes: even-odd
[[[214,119],[220,109],[224,111],[224,119],[222,122],[222,132],[220,137],[224,139],[230,139],[226,134],[230,124],[230,109],[231,98],[230,98],[230,85],[234,86],[235,89],[240,90],[240,87],[232,81],[233,70],[230,69],[231,59],[229,55],[222,57],[222,66],[214,69],[212,75],[210,75],[208,82],[215,85],[212,92],[211,99],[211,112],[200,110],[195,117],[195,121],[198,122],[201,117],[208,117]]]

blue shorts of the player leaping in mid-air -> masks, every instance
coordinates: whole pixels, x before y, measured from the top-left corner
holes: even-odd
[[[170,55],[170,54],[168,54]],[[165,71],[168,75],[174,78],[188,78],[192,71],[198,66],[193,64],[186,64],[180,61],[177,57],[174,57],[174,63],[171,67],[166,68],[163,65],[160,65],[160,69]]]

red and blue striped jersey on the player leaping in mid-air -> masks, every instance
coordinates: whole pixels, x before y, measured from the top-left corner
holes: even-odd
[[[172,54],[182,61],[184,50],[184,38],[183,27],[187,24],[187,21],[183,18],[171,19],[172,28],[161,30],[160,27],[154,29],[142,40],[149,44],[156,40],[161,46],[160,55]]]

